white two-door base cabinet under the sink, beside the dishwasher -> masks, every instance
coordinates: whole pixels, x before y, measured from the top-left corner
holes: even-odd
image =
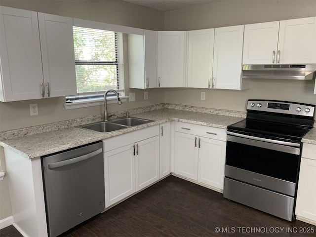
[[[159,179],[159,127],[105,139],[105,206],[132,195]]]

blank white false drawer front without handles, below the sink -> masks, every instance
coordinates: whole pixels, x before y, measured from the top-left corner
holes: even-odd
[[[115,137],[106,138],[103,140],[103,150],[104,152],[111,151],[157,135],[159,135],[159,126],[155,125]]]

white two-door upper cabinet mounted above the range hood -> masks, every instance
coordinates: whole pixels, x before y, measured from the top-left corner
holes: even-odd
[[[316,63],[316,17],[245,25],[243,64]]]

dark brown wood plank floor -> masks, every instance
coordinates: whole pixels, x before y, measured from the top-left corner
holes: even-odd
[[[308,233],[309,232],[309,233]],[[21,237],[9,226],[0,237]],[[316,226],[288,222],[169,176],[61,237],[316,237]]]

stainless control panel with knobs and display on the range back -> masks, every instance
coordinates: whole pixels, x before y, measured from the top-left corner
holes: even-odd
[[[248,100],[248,110],[314,117],[315,105],[287,101]]]

